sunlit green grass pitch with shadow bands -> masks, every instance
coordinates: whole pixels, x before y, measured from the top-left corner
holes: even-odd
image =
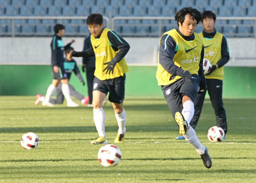
[[[179,136],[163,98],[126,98],[127,133],[117,146],[119,165],[105,168],[97,160],[100,145],[93,110],[66,105],[34,106],[34,96],[0,97],[0,182],[256,182],[256,99],[225,99],[227,140],[211,143],[207,130],[216,125],[209,100],[196,128],[208,147],[212,168]],[[117,122],[110,103],[104,107],[106,136],[114,142]],[[34,132],[37,149],[25,150],[20,138]]]

